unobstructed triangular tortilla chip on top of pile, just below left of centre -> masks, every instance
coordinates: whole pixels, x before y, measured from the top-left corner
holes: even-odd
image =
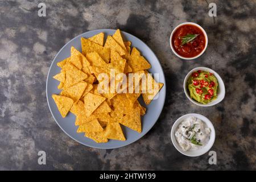
[[[85,115],[89,116],[106,100],[105,97],[97,96],[96,94],[88,93],[84,97],[84,107],[86,110]]]

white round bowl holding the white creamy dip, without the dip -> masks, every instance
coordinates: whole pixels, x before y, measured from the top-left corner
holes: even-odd
[[[175,137],[175,131],[176,131],[177,127],[180,125],[180,123],[182,121],[184,121],[185,118],[188,118],[188,117],[199,118],[199,119],[201,119],[201,121],[203,121],[210,128],[210,139],[209,139],[208,143],[206,144],[206,146],[204,146],[203,148],[200,148],[199,150],[196,150],[196,151],[184,151],[179,146],[179,143],[177,143],[177,140],[176,140],[176,137]],[[181,154],[191,156],[191,157],[200,156],[200,155],[205,154],[206,152],[208,152],[210,150],[210,148],[212,148],[213,143],[215,141],[215,130],[214,130],[214,127],[212,125],[212,122],[210,122],[210,120],[208,118],[204,117],[203,115],[195,114],[195,113],[186,114],[186,115],[181,116],[179,119],[177,119],[175,121],[174,125],[172,125],[171,139],[172,139],[172,144],[174,144],[174,147]]]

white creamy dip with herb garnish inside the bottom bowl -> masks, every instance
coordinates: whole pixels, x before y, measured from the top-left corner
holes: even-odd
[[[195,151],[208,143],[210,129],[200,119],[188,117],[177,127],[175,137],[184,151]]]

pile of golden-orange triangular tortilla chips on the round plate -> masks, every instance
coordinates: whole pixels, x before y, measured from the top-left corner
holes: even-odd
[[[60,81],[57,88],[61,92],[52,98],[61,116],[64,118],[71,111],[76,115],[77,133],[85,133],[85,137],[97,143],[126,140],[121,125],[141,133],[141,115],[146,108],[137,99],[142,94],[144,102],[150,104],[163,84],[152,78],[152,84],[158,85],[156,92],[99,93],[97,77],[99,73],[108,73],[110,68],[126,75],[148,73],[150,63],[137,48],[131,49],[131,42],[123,41],[120,30],[108,36],[105,44],[103,32],[81,38],[81,46],[82,53],[71,47],[71,56],[57,63],[61,71],[53,76]]]

